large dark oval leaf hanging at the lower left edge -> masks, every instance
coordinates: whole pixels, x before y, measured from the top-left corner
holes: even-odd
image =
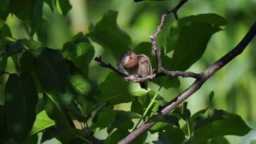
[[[10,134],[17,143],[24,143],[36,119],[35,108],[38,101],[36,83],[31,74],[11,74],[6,82],[4,95]]]

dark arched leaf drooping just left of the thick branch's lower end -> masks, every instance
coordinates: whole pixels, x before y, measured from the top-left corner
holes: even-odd
[[[110,134],[114,130],[114,128],[118,127],[122,122],[125,122],[127,120],[132,120],[134,118],[140,118],[140,117],[136,115],[134,112],[125,112],[125,111],[119,112],[118,114],[116,114],[116,118],[113,119],[108,124],[108,129],[107,129],[108,134]],[[133,128],[133,126],[131,128]]]

